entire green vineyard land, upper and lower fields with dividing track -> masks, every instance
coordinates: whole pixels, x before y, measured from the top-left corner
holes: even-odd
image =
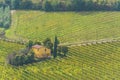
[[[119,21],[117,11],[14,10],[5,39],[0,39],[0,80],[119,80]],[[55,35],[61,45],[68,46],[67,57],[19,67],[6,63],[8,54],[25,48],[21,41],[43,41],[47,37],[53,41]]]

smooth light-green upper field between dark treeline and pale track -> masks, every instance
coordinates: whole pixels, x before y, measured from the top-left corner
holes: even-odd
[[[64,43],[120,37],[120,12],[16,11],[12,21],[9,38],[42,41],[57,35]]]

